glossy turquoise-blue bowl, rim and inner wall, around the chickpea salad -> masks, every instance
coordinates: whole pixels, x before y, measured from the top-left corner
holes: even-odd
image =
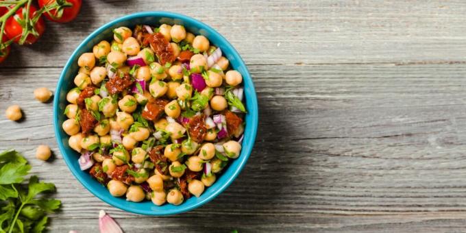
[[[243,75],[245,87],[247,114],[245,119],[246,127],[241,155],[230,161],[230,165],[223,171],[223,173],[221,173],[221,175],[219,175],[217,182],[206,188],[206,191],[201,195],[201,197],[191,197],[184,201],[180,206],[173,206],[171,204],[156,206],[152,204],[151,201],[135,203],[126,201],[122,197],[112,197],[112,195],[108,193],[107,188],[93,179],[93,177],[88,174],[88,171],[81,171],[81,169],[79,169],[79,164],[77,162],[79,154],[69,147],[69,136],[63,132],[61,127],[63,121],[66,120],[66,116],[63,114],[64,109],[68,104],[66,101],[66,93],[74,86],[73,79],[79,68],[77,66],[77,59],[79,56],[82,53],[92,51],[93,46],[101,40],[112,40],[112,29],[116,27],[125,26],[133,28],[134,25],[137,24],[160,25],[162,23],[170,25],[184,25],[188,32],[206,36],[213,45],[221,48],[223,56],[230,60],[230,66]],[[62,152],[62,156],[66,164],[71,170],[71,173],[75,175],[77,180],[79,180],[79,182],[81,182],[81,184],[86,187],[90,193],[93,193],[102,201],[128,212],[147,215],[169,215],[193,210],[203,204],[206,204],[208,201],[214,199],[214,197],[223,192],[225,188],[233,182],[236,176],[238,176],[241,169],[245,166],[247,158],[249,158],[249,155],[251,154],[252,147],[254,147],[254,140],[256,138],[258,126],[258,104],[254,84],[252,83],[252,78],[249,75],[249,71],[247,71],[245,63],[232,45],[230,45],[223,36],[212,29],[212,27],[182,14],[175,14],[171,12],[140,12],[123,16],[99,27],[99,29],[90,34],[81,43],[81,45],[75,49],[71,58],[66,62],[62,74],[60,75],[60,79],[58,80],[55,99],[53,100],[53,125],[55,127],[58,147]]]

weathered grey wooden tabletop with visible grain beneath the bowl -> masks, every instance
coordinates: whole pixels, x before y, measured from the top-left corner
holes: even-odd
[[[52,127],[66,60],[90,32],[144,10],[179,12],[241,53],[260,106],[256,146],[232,186],[172,217],[103,203],[71,175]],[[0,65],[0,149],[58,187],[51,232],[97,232],[108,210],[126,232],[463,232],[466,225],[465,1],[84,1]],[[2,113],[3,114],[3,113]],[[50,145],[51,162],[34,158]]]

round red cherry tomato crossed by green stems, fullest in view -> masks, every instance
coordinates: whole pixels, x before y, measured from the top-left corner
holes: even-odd
[[[16,21],[16,17],[19,17],[19,19],[23,19],[23,9],[25,8],[19,8],[16,13],[8,18],[5,23],[5,35],[8,36],[8,38],[14,38],[14,42],[19,42],[19,39],[21,38],[21,34],[23,34],[23,27],[21,27],[21,24]],[[32,19],[34,15],[36,14],[37,9],[31,5],[29,8],[29,19]],[[32,34],[29,34],[25,40],[25,45],[32,45],[36,40],[42,36],[42,34],[45,31],[45,23],[44,19],[42,19],[42,16],[40,16],[39,20],[36,22],[36,25],[34,25],[34,28],[38,32],[38,36],[34,36]]]

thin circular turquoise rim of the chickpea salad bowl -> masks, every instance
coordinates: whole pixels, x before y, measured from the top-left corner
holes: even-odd
[[[184,208],[182,208],[181,206],[174,206],[175,208],[171,208],[169,210],[137,209],[137,208],[130,208],[130,207],[127,207],[125,205],[121,205],[119,203],[116,203],[115,201],[112,201],[112,199],[110,199],[108,197],[108,195],[110,195],[110,194],[108,194],[108,195],[100,194],[99,192],[97,192],[93,188],[91,188],[90,184],[87,184],[87,182],[82,180],[77,175],[78,171],[75,171],[75,169],[73,169],[73,167],[71,166],[71,162],[75,162],[75,161],[71,161],[69,156],[66,155],[66,149],[65,149],[65,147],[64,147],[64,145],[62,143],[62,137],[60,136],[61,127],[60,127],[60,125],[58,123],[58,111],[59,111],[59,106],[58,105],[59,105],[59,99],[60,99],[59,98],[59,96],[60,96],[60,87],[64,83],[64,77],[65,77],[66,71],[68,69],[70,69],[70,66],[73,64],[72,58],[74,58],[77,55],[80,48],[85,46],[88,42],[90,42],[90,40],[93,40],[93,38],[95,38],[98,34],[101,34],[102,32],[104,32],[109,27],[112,27],[113,25],[115,25],[117,23],[121,23],[122,21],[129,21],[131,19],[150,17],[150,16],[167,17],[167,18],[170,18],[170,19],[182,19],[183,21],[188,21],[190,24],[199,26],[199,28],[201,28],[201,29],[206,29],[212,35],[217,36],[219,38],[219,40],[221,40],[221,43],[223,43],[223,46],[228,47],[229,49],[231,49],[231,51],[233,51],[233,53],[234,53],[234,56],[236,58],[238,58],[237,60],[238,60],[238,62],[240,64],[240,66],[243,66],[245,71],[247,72],[246,75],[245,75],[245,79],[248,79],[248,81],[250,81],[248,86],[251,86],[251,88],[253,90],[247,96],[247,98],[251,98],[251,100],[252,100],[252,106],[249,106],[249,105],[247,106],[247,108],[249,109],[249,113],[252,114],[252,122],[248,122],[248,124],[252,124],[252,139],[249,140],[250,142],[252,142],[252,145],[250,147],[247,147],[247,151],[244,151],[245,154],[244,154],[242,160],[240,161],[240,164],[238,164],[238,168],[233,171],[232,175],[230,177],[228,177],[228,180],[226,182],[221,184],[221,186],[219,186],[219,188],[217,188],[217,190],[215,190],[214,193],[212,193],[210,196],[206,197],[206,199],[202,199],[201,201],[198,201],[198,202],[196,202],[196,203],[194,203],[194,204],[192,204],[190,206],[185,206]],[[199,21],[197,19],[191,18],[190,16],[186,16],[184,14],[178,14],[178,13],[174,13],[174,12],[165,12],[165,11],[136,12],[136,13],[133,13],[133,14],[128,14],[128,15],[121,16],[119,18],[113,19],[112,21],[110,21],[110,22],[102,25],[101,27],[95,29],[95,31],[93,31],[91,34],[89,34],[89,36],[87,36],[76,47],[76,49],[73,51],[73,53],[71,53],[71,56],[69,56],[68,61],[66,62],[65,66],[63,67],[62,73],[60,73],[60,78],[58,79],[58,83],[57,83],[57,86],[56,86],[55,98],[53,98],[53,127],[54,127],[54,132],[56,134],[56,140],[57,140],[57,143],[58,143],[58,148],[60,149],[60,153],[62,154],[62,157],[63,157],[63,159],[64,159],[64,161],[66,163],[66,166],[71,171],[71,173],[75,176],[75,178],[79,181],[79,183],[81,183],[82,186],[84,186],[84,188],[86,188],[90,193],[95,195],[95,197],[101,199],[101,201],[109,204],[110,206],[113,206],[115,208],[119,208],[119,209],[124,210],[126,212],[132,212],[132,213],[135,213],[135,214],[151,215],[151,216],[166,216],[166,215],[171,215],[171,214],[180,214],[182,212],[187,212],[189,210],[199,208],[200,206],[203,206],[204,204],[208,203],[209,201],[212,201],[212,199],[217,197],[220,193],[225,191],[225,189],[228,188],[228,186],[230,186],[230,184],[232,184],[232,182],[236,179],[236,177],[239,175],[239,173],[241,173],[241,170],[243,170],[243,168],[245,167],[245,164],[246,164],[247,160],[249,159],[249,156],[251,155],[252,148],[254,147],[254,142],[256,140],[256,134],[257,134],[257,129],[258,129],[258,111],[259,110],[258,110],[256,88],[254,88],[254,82],[252,82],[252,77],[251,77],[251,75],[249,73],[249,69],[247,69],[247,66],[246,66],[245,62],[243,61],[243,58],[241,58],[241,56],[239,55],[238,51],[236,51],[236,49],[234,49],[234,47],[230,44],[230,42],[228,42],[228,40],[226,38],[224,38],[219,32],[217,32],[215,29],[213,29],[212,27],[210,27],[206,23],[203,23],[203,22],[201,22],[201,21]],[[242,151],[242,153],[243,153],[243,151]],[[180,208],[178,208],[178,207],[180,207]]]

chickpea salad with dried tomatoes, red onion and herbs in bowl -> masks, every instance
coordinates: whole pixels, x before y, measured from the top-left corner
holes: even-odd
[[[62,128],[79,167],[128,201],[180,205],[238,158],[243,76],[182,25],[113,29],[77,60]]]

